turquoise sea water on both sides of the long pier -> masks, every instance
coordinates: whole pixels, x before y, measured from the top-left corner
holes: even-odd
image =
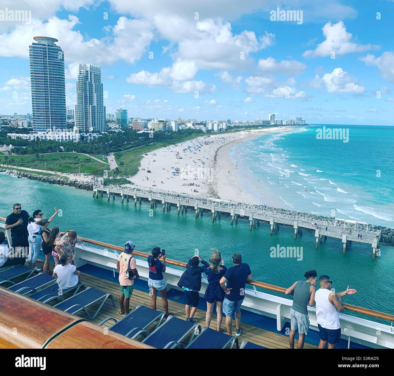
[[[264,191],[266,195],[267,188],[275,188],[283,207],[325,216],[330,216],[334,209],[340,218],[394,227],[393,131],[388,127],[344,127],[351,128],[347,144],[341,145],[339,140],[316,140],[315,128],[305,127],[307,130],[299,128],[296,132],[263,135],[240,143],[232,149],[231,158],[238,163],[238,173],[245,177],[242,182],[246,189],[256,195]],[[286,169],[292,171],[289,177],[281,174]],[[378,169],[380,178],[376,177]],[[257,180],[262,186],[254,191]],[[271,180],[276,184],[274,187]],[[308,188],[308,194],[313,190],[313,199],[303,193],[303,186]],[[177,216],[176,210],[163,213],[158,207],[150,216],[149,203],[134,207],[134,201],[121,204],[118,197],[108,202],[106,197],[93,198],[93,192],[17,179],[5,173],[0,173],[0,192],[2,217],[11,213],[16,202],[30,214],[38,208],[47,217],[57,206],[62,216],[57,216],[53,225],[63,230],[75,229],[80,236],[120,246],[131,239],[139,251],[150,252],[159,246],[166,249],[169,258],[185,262],[196,249],[208,260],[210,248],[217,248],[226,265],[231,266],[231,255],[240,252],[243,262],[251,266],[253,279],[281,287],[303,279],[306,270],[316,269],[318,275],[331,277],[336,290],[342,291],[348,285],[357,289],[357,294],[345,297],[344,302],[387,313],[394,311],[394,246],[391,245],[381,245],[381,255],[373,260],[372,248],[367,244],[353,243],[342,254],[342,243],[329,238],[315,249],[315,238],[307,231],[294,240],[290,227],[281,226],[277,235],[270,236],[266,224],[249,231],[247,220],[230,225],[230,218],[222,216],[212,223],[211,216],[195,218],[191,210]],[[302,260],[271,258],[270,248],[278,244],[302,247]]]

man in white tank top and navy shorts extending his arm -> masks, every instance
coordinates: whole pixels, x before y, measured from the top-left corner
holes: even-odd
[[[318,348],[335,348],[341,339],[341,327],[339,323],[339,312],[344,311],[342,297],[355,294],[355,289],[348,288],[342,292],[335,292],[332,288],[333,281],[328,275],[319,278],[320,289],[315,293],[316,317],[320,331],[320,343]]]

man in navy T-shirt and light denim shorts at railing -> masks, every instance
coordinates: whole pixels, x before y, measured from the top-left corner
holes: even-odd
[[[241,335],[241,304],[245,297],[246,281],[252,280],[252,274],[248,264],[242,263],[242,256],[240,253],[234,253],[232,256],[234,266],[229,268],[225,275],[220,279],[220,285],[226,292],[226,297],[223,302],[223,312],[226,315],[227,333],[232,335],[232,314],[235,316],[235,335]],[[227,281],[227,287],[225,282]]]

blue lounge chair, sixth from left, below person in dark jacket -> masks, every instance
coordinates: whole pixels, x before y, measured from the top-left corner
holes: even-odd
[[[142,343],[148,344],[156,348],[184,348],[185,346],[181,343],[190,332],[191,338],[189,343],[193,340],[197,331],[201,331],[201,326],[198,324],[193,324],[180,318],[169,316],[165,323],[155,329],[151,334],[146,330],[141,330],[134,335],[136,338],[139,334],[145,335],[147,337],[142,341]]]

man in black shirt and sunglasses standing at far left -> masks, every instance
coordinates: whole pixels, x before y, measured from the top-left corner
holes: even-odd
[[[17,248],[23,247],[25,255],[27,256],[29,249],[29,233],[27,231],[29,214],[26,210],[22,210],[22,206],[20,204],[14,204],[12,208],[13,213],[7,216],[4,229],[11,230],[12,247],[14,252],[17,251]]]

